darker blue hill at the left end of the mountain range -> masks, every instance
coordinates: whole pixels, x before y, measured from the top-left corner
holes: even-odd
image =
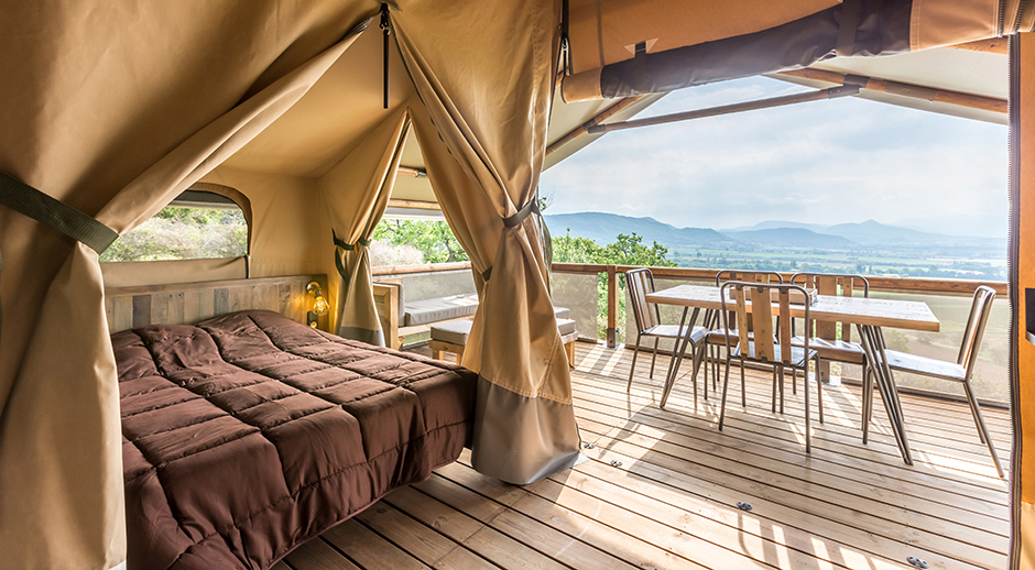
[[[628,235],[633,232],[642,235],[647,245],[656,241],[666,248],[718,245],[736,241],[712,229],[676,228],[654,218],[631,218],[597,211],[547,213],[544,218],[553,235],[564,235],[570,228],[571,235],[588,238],[600,245],[613,242],[619,233]]]

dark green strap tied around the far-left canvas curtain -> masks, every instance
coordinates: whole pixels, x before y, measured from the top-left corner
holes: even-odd
[[[102,253],[119,237],[103,223],[4,173],[0,173],[0,205],[80,241],[97,253]]]

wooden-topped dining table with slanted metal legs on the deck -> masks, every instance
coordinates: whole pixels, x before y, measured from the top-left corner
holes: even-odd
[[[658,305],[673,305],[683,307],[683,318],[680,327],[686,326],[687,313],[694,309],[689,326],[680,330],[693,330],[700,309],[721,310],[722,300],[719,298],[717,287],[705,287],[699,285],[677,285],[667,289],[650,293],[646,295],[647,303]],[[734,306],[733,300],[727,299],[727,310]],[[750,304],[749,304],[750,306]],[[791,315],[794,317],[804,317],[805,308],[802,305],[792,305]],[[871,369],[874,372],[878,387],[881,391],[881,399],[884,402],[884,409],[892,424],[892,431],[895,434],[895,440],[898,443],[898,450],[902,452],[902,459],[906,464],[912,465],[913,459],[909,454],[909,443],[905,432],[905,419],[902,415],[902,404],[898,402],[898,391],[895,387],[895,379],[891,369],[887,366],[885,355],[884,336],[881,327],[894,327],[898,329],[923,330],[937,332],[941,325],[938,318],[927,304],[914,300],[892,300],[875,299],[868,297],[837,297],[819,295],[809,305],[809,318],[813,320],[840,321],[847,325],[856,325],[859,330],[859,337],[862,340],[863,351],[867,353]],[[669,377],[666,379],[666,386],[671,388],[675,384],[678,375],[679,364],[683,362],[683,352],[689,339],[684,339],[682,347],[676,347],[676,363],[672,366]],[[868,379],[864,379],[867,381]],[[865,385],[865,382],[864,382]],[[864,392],[872,387],[864,387]],[[863,394],[870,396],[870,394]],[[872,399],[872,398],[871,398]],[[863,421],[867,421],[868,414],[863,410]],[[863,441],[865,442],[865,441]]]

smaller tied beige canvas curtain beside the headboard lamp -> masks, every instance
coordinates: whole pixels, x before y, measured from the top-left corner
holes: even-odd
[[[403,106],[319,179],[322,238],[329,244],[335,239],[325,255],[331,328],[340,337],[379,347],[385,342],[373,299],[369,244],[388,208],[408,132],[410,112]]]

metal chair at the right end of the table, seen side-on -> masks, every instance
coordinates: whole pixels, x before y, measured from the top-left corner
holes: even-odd
[[[901,372],[912,372],[936,379],[959,382],[963,385],[963,392],[967,394],[967,402],[970,404],[970,413],[973,415],[974,425],[978,428],[978,437],[982,443],[989,447],[989,453],[992,454],[992,461],[995,462],[995,470],[999,476],[1005,476],[1003,465],[999,461],[999,454],[995,452],[995,446],[989,436],[989,428],[984,425],[984,417],[981,415],[981,407],[978,405],[978,398],[974,396],[970,380],[973,376],[974,364],[978,362],[978,350],[981,348],[981,338],[984,336],[984,327],[989,321],[989,313],[992,309],[992,302],[995,299],[995,289],[980,286],[974,291],[973,304],[970,307],[970,317],[967,319],[967,328],[963,329],[963,340],[960,343],[959,355],[956,362],[946,362],[944,360],[918,357],[897,350],[885,350],[887,354],[887,365],[892,370]],[[864,390],[863,414],[865,426],[869,426],[869,419],[873,414],[873,390],[868,386]]]

